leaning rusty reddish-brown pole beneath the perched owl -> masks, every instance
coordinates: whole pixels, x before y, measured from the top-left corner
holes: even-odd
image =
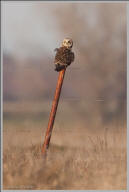
[[[60,93],[61,93],[61,88],[62,88],[62,84],[63,84],[65,71],[66,71],[66,69],[63,69],[63,70],[61,70],[59,72],[56,91],[55,91],[55,96],[54,96],[54,99],[53,99],[53,102],[52,102],[52,108],[51,108],[51,112],[50,112],[50,116],[49,116],[48,127],[47,127],[47,130],[46,130],[45,140],[44,140],[44,143],[43,143],[43,146],[42,146],[42,154],[46,154],[47,149],[49,147],[49,143],[50,143],[50,139],[51,139],[51,135],[52,135],[52,129],[53,129],[53,125],[54,125],[54,120],[55,120],[55,116],[56,116],[56,111],[57,111],[57,107],[58,107],[58,102],[59,102],[59,98],[60,98]]]

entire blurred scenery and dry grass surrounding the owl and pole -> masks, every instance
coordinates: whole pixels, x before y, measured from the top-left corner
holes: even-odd
[[[126,189],[126,4],[2,2],[4,189]],[[41,145],[72,38],[48,161]]]

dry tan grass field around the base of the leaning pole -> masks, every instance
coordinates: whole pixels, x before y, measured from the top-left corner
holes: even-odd
[[[66,121],[67,115],[60,121],[57,114],[44,160],[49,108],[4,104],[3,188],[125,190],[126,126],[91,128],[76,119]]]

